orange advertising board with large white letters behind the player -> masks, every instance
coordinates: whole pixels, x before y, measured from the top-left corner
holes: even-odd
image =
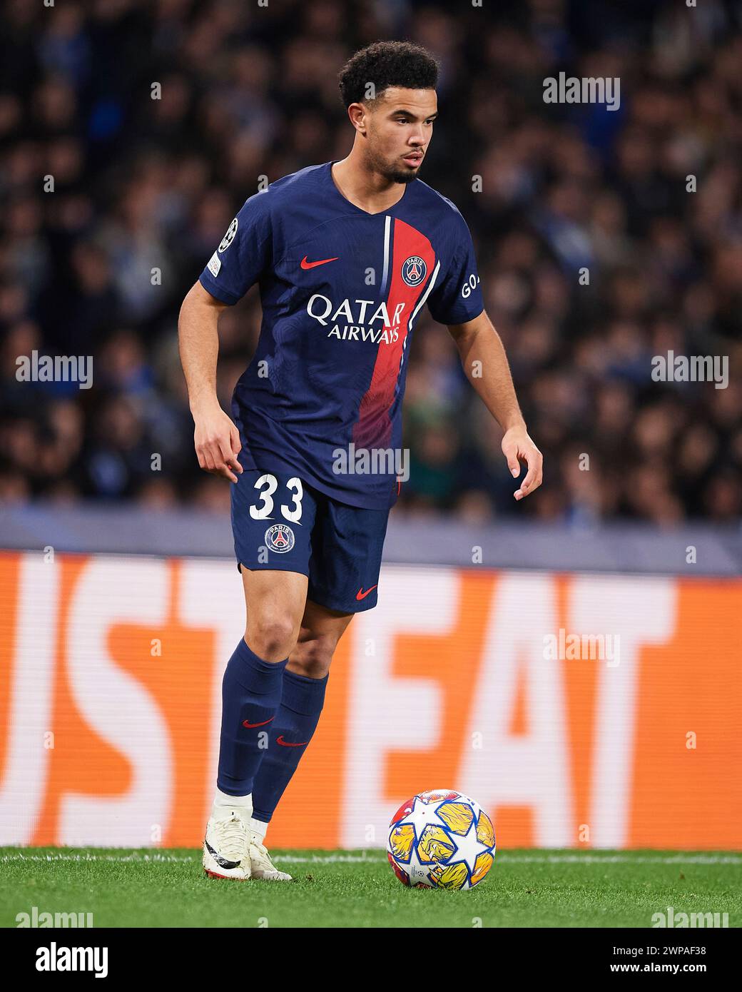
[[[197,846],[231,561],[0,554],[0,844]],[[742,581],[387,565],[274,847],[456,789],[499,846],[742,849]]]

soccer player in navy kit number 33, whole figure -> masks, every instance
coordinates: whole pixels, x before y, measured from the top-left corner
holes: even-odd
[[[247,606],[222,682],[203,844],[213,877],[291,878],[272,864],[265,832],[317,725],[337,642],[355,613],[376,605],[399,492],[393,455],[408,356],[425,306],[447,325],[502,428],[512,474],[527,465],[515,498],[542,481],[541,453],[482,305],[468,227],[418,179],[436,79],[436,62],[416,45],[378,42],[356,53],[339,73],[355,130],[350,154],[251,196],[181,310],[198,464],[232,483]],[[218,317],[254,283],[263,322],[230,419],[215,389]]]

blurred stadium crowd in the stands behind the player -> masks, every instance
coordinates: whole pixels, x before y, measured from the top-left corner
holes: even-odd
[[[739,519],[741,8],[492,6],[5,3],[0,501],[228,507],[193,451],[180,304],[261,177],[344,158],[336,73],[399,38],[441,64],[421,179],[469,224],[545,479],[515,502],[497,425],[426,310],[397,512]],[[545,102],[559,71],[619,77],[620,107]],[[221,317],[227,411],[259,326],[255,289]],[[19,382],[34,350],[93,356],[92,387]],[[727,356],[728,384],[655,381],[670,351]]]

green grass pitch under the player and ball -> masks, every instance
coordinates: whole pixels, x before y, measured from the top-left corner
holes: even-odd
[[[0,848],[0,926],[34,906],[95,928],[651,928],[668,907],[742,925],[739,853],[498,851],[470,892],[406,889],[378,849],[272,853],[294,882],[207,879],[189,848]]]

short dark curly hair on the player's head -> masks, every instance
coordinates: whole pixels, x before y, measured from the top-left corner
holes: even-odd
[[[368,84],[374,84],[378,99],[388,86],[407,89],[434,89],[438,63],[422,45],[412,42],[374,42],[348,60],[337,73],[340,99],[351,103],[372,103]]]

